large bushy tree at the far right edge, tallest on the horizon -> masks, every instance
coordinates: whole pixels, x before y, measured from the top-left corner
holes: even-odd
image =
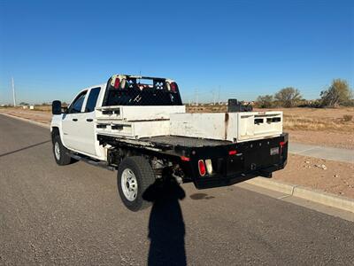
[[[352,91],[347,81],[342,79],[333,80],[327,90],[320,92],[321,106],[340,106],[350,102]]]

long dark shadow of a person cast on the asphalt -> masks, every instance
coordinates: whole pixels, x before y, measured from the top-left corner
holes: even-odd
[[[153,203],[149,220],[148,265],[186,265],[186,234],[181,206],[186,193],[174,178],[157,180],[142,198]]]

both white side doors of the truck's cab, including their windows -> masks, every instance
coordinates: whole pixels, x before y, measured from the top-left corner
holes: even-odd
[[[100,89],[81,91],[63,116],[64,145],[78,153],[96,155],[94,111]]]

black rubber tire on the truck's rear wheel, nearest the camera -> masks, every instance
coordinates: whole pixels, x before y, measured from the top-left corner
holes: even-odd
[[[130,200],[128,200],[125,192],[123,192],[123,190],[127,190],[129,188],[129,185],[127,185],[125,188],[122,187],[122,179],[126,179],[126,177],[122,176],[123,172],[125,171],[127,171],[128,173],[129,171],[133,172],[137,183],[137,192],[132,192],[135,194],[135,198],[133,197],[133,199]],[[127,176],[127,174],[125,175]],[[142,156],[127,157],[126,159],[120,162],[117,173],[118,192],[120,199],[123,201],[124,205],[129,210],[137,212],[139,210],[142,210],[143,208],[150,207],[151,203],[149,201],[143,200],[142,194],[154,182],[154,172],[148,160],[145,160]],[[127,182],[125,184],[127,184]],[[135,188],[135,186],[132,184],[130,184],[130,186]]]

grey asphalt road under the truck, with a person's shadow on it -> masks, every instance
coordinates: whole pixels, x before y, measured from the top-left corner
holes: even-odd
[[[235,186],[158,197],[129,212],[115,172],[58,167],[48,129],[0,115],[0,264],[354,264],[335,216]]]

